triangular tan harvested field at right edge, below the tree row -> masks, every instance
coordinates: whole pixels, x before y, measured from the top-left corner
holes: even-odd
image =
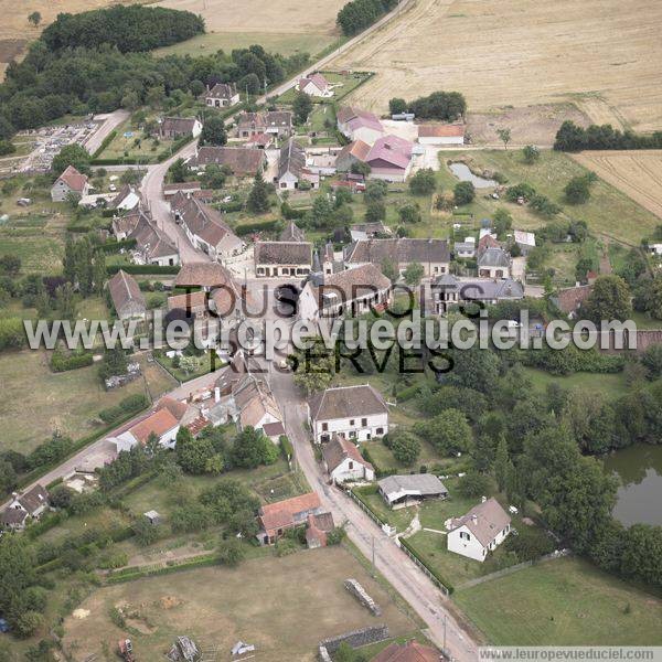
[[[573,158],[662,218],[662,150],[585,151]]]

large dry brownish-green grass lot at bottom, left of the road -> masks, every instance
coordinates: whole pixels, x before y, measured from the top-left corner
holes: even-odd
[[[305,551],[277,558],[245,560],[237,568],[207,567],[156,576],[96,590],[79,607],[83,619],[65,620],[65,649],[76,641],[78,659],[110,650],[126,636],[109,618],[128,604],[136,611],[131,634],[136,655],[156,660],[175,633],[199,645],[229,648],[239,639],[254,643],[265,660],[312,661],[318,642],[375,623],[374,617],[344,588],[355,577],[382,607],[380,622],[392,636],[417,630],[384,588],[343,547]]]

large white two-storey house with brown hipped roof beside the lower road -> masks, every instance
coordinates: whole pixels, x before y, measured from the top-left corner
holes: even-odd
[[[365,441],[388,431],[388,406],[370,384],[327,388],[310,398],[308,410],[316,444],[334,435]]]

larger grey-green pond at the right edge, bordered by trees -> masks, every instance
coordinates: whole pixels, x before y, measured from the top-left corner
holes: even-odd
[[[626,525],[662,525],[662,446],[636,444],[605,458],[620,479],[613,516]]]

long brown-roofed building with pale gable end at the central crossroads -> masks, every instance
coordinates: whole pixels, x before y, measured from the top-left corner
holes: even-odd
[[[335,274],[314,274],[299,296],[302,320],[360,316],[383,309],[391,297],[391,280],[372,264]]]

